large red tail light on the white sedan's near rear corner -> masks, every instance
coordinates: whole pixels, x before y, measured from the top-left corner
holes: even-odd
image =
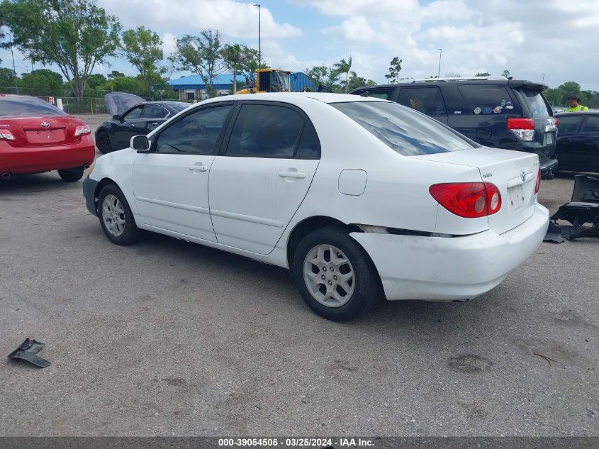
[[[501,209],[501,194],[491,182],[449,182],[428,190],[441,206],[464,218],[493,215]]]

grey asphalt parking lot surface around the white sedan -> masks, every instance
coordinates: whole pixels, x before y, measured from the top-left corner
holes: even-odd
[[[95,128],[103,117],[84,117]],[[542,182],[553,212],[571,175]],[[599,239],[466,303],[332,323],[285,270],[150,235],[119,247],[56,172],[0,183],[3,436],[598,436]]]

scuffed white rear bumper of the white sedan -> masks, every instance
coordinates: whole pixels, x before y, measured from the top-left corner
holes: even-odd
[[[534,214],[503,234],[483,231],[464,237],[418,237],[352,233],[379,271],[389,300],[471,299],[496,287],[542,243],[549,211]]]

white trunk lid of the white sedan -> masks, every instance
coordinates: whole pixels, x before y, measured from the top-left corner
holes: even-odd
[[[501,194],[502,204],[499,211],[487,219],[489,228],[498,234],[510,231],[534,214],[534,185],[539,172],[537,155],[483,147],[413,157],[476,167],[483,182],[495,184]]]

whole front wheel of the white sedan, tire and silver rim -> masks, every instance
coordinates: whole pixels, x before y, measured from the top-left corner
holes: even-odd
[[[102,231],[112,243],[130,245],[141,237],[142,231],[135,225],[135,219],[123,192],[113,184],[100,191],[98,217]]]

